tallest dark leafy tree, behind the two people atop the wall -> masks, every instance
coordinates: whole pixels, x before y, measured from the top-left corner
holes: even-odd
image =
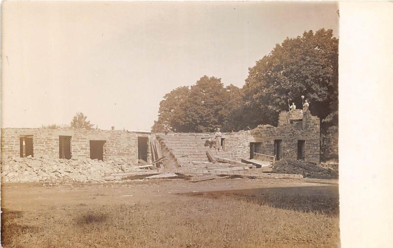
[[[338,39],[331,29],[304,32],[303,36],[286,38],[273,51],[249,68],[243,87],[253,126],[270,123],[288,100],[302,105],[304,95],[312,114],[337,123],[338,110]]]

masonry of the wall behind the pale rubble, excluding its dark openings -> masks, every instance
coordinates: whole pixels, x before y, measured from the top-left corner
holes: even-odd
[[[105,140],[104,160],[126,158],[138,163],[138,136],[155,138],[152,134],[140,134],[119,130],[50,130],[33,128],[1,129],[1,156],[20,157],[20,137],[32,135],[35,157],[59,158],[59,136],[71,136],[73,159],[90,158],[90,140]],[[148,146],[150,149],[150,146]],[[150,152],[149,152],[150,153]],[[151,156],[148,155],[149,161]]]

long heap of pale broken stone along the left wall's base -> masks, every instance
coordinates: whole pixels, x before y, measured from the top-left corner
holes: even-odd
[[[134,168],[126,159],[108,161],[66,160],[46,157],[2,158],[2,182],[38,182],[69,180],[77,182],[104,181],[104,174],[124,171],[146,171]],[[108,180],[108,178],[105,178]],[[119,178],[111,178],[119,179]]]

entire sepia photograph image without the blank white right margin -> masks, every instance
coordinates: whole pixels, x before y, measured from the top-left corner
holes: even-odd
[[[339,18],[3,1],[2,247],[339,248]]]

